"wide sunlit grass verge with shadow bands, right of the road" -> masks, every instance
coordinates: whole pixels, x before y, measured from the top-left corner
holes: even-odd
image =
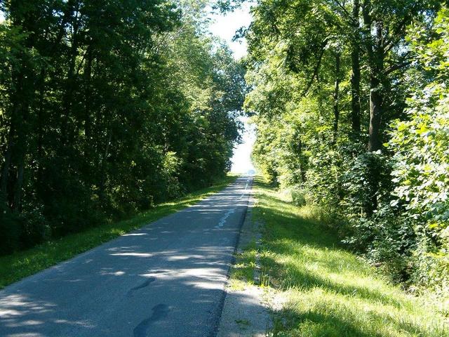
[[[449,336],[424,298],[408,295],[261,178],[253,216],[264,224],[260,256],[270,286],[286,298],[273,336]],[[445,325],[446,324],[446,325]]]

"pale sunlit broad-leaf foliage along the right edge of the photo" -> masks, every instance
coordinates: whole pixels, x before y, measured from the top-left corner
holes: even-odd
[[[391,208],[413,225],[417,249],[413,279],[449,289],[449,11],[443,8],[431,37],[422,41],[422,28],[409,39],[417,61],[431,79],[408,100],[407,119],[395,121],[389,148],[394,152],[395,188]],[[446,308],[447,310],[447,308]]]

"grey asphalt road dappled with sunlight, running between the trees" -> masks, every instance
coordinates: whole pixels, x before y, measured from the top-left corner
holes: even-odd
[[[0,336],[215,336],[251,178],[0,291]]]

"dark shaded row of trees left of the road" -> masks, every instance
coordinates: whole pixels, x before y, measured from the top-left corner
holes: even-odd
[[[0,253],[225,175],[245,70],[206,5],[0,1]]]

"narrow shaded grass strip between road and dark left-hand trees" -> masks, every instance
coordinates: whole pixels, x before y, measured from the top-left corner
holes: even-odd
[[[174,201],[159,204],[149,211],[117,223],[93,227],[90,230],[67,235],[61,239],[49,241],[26,251],[20,251],[0,257],[0,289],[23,277],[33,275],[52,265],[68,260],[79,253],[108,242],[126,232],[138,229],[170,213],[180,211],[196,204],[208,195],[222,190],[236,180],[237,176],[228,175],[217,184],[198,190]]]

